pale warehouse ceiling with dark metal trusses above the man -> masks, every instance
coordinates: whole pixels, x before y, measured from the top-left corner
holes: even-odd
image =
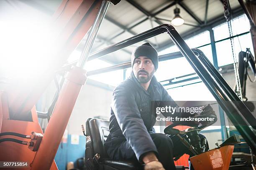
[[[23,4],[33,7],[47,15],[53,15],[62,1],[4,0],[0,2],[0,6],[2,6],[2,9],[6,4],[10,5],[10,7],[17,7],[17,2],[20,5]],[[164,23],[170,24],[170,21],[174,17],[174,8],[176,6],[180,9],[180,16],[184,19],[185,23],[175,27],[175,29],[183,38],[195,35],[198,31],[209,27],[209,25],[224,20],[223,0],[121,0],[117,5],[111,4],[108,8],[93,45],[92,52],[158,25]],[[238,0],[230,0],[230,6],[233,13],[243,13]],[[2,13],[5,10],[2,10]],[[82,51],[84,42],[85,40],[82,40],[77,50]],[[158,51],[172,44],[167,34],[161,34],[126,47],[123,50],[103,56],[100,59],[113,64],[128,62],[130,61],[131,52],[134,47],[145,42],[150,42]]]

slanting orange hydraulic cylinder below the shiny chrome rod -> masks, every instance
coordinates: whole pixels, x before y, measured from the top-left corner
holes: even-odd
[[[65,76],[65,82],[54,107],[53,114],[31,163],[31,170],[49,170],[67,127],[75,102],[86,82],[85,70],[74,66]],[[68,96],[68,97],[67,97]],[[46,159],[47,158],[47,159]]]

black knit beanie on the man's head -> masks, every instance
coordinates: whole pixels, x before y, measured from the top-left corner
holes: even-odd
[[[140,56],[145,56],[145,57],[150,58],[155,66],[155,69],[157,70],[158,54],[157,54],[156,49],[149,42],[146,42],[145,44],[135,48],[135,50],[133,51],[132,56],[131,56],[132,67],[134,64],[134,60]]]

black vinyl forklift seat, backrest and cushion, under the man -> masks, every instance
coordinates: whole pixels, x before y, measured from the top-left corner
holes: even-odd
[[[100,164],[103,170],[143,170],[143,165],[133,161],[114,161],[104,152],[104,142],[109,134],[109,121],[89,118],[86,121],[86,149],[85,159],[100,155]]]

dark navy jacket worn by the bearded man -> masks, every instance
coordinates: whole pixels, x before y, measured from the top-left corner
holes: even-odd
[[[156,113],[151,112],[151,101],[160,100],[173,101],[156,77],[152,77],[148,90],[145,90],[132,71],[130,77],[113,91],[110,134],[106,141],[109,143],[114,138],[115,142],[117,138],[127,140],[138,160],[149,151],[158,155],[149,133],[153,133],[156,122]],[[107,152],[111,149],[105,145]]]

